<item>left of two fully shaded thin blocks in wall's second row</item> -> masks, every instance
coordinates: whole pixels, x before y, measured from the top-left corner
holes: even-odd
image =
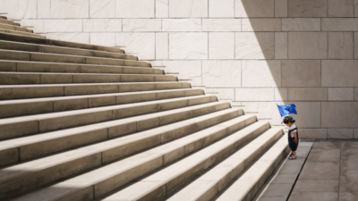
[[[320,31],[320,18],[283,18],[283,31]]]

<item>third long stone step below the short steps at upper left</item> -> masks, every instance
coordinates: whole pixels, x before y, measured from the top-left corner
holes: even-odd
[[[47,54],[47,53],[31,53],[24,51],[0,50],[0,60],[16,60],[16,61],[31,61],[42,63],[84,63],[84,64],[100,64],[100,65],[122,65],[122,66],[137,66],[150,67],[150,63],[100,58],[79,55],[64,55],[64,54]]]

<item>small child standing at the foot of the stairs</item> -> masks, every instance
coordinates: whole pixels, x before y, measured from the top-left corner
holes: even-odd
[[[295,120],[292,118],[292,116],[286,116],[284,118],[283,123],[289,128],[288,130],[288,146],[291,149],[291,155],[288,158],[289,160],[295,160],[297,159],[296,150],[298,147],[298,130],[296,125],[294,124]]]

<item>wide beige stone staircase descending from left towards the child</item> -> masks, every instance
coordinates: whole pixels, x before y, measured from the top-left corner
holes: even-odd
[[[124,50],[0,20],[0,200],[251,200],[282,128]]]

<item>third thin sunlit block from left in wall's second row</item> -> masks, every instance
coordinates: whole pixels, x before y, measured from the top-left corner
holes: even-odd
[[[84,32],[121,32],[122,20],[120,19],[98,19],[83,20]]]

